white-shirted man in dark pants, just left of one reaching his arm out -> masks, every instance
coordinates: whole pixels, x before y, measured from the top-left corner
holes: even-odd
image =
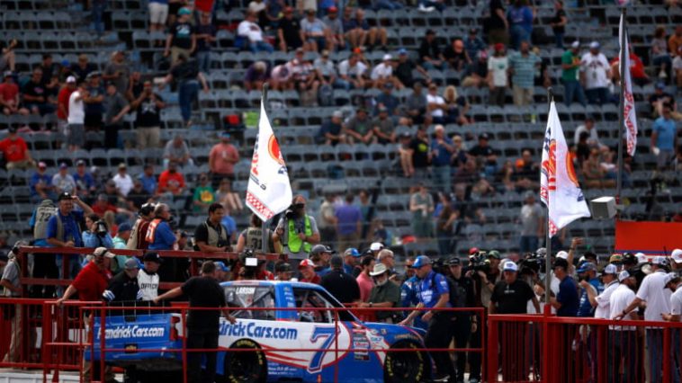
[[[618,274],[620,284],[609,298],[609,316],[615,318],[621,316],[625,308],[635,298],[634,291],[637,281],[629,272],[623,271]],[[626,318],[637,320],[637,313],[631,312]],[[607,381],[636,381],[637,380],[637,352],[641,346],[637,344],[637,333],[632,325],[610,325],[608,332],[608,346],[611,346],[611,354],[607,358]],[[624,376],[620,377],[620,365],[624,361]]]

